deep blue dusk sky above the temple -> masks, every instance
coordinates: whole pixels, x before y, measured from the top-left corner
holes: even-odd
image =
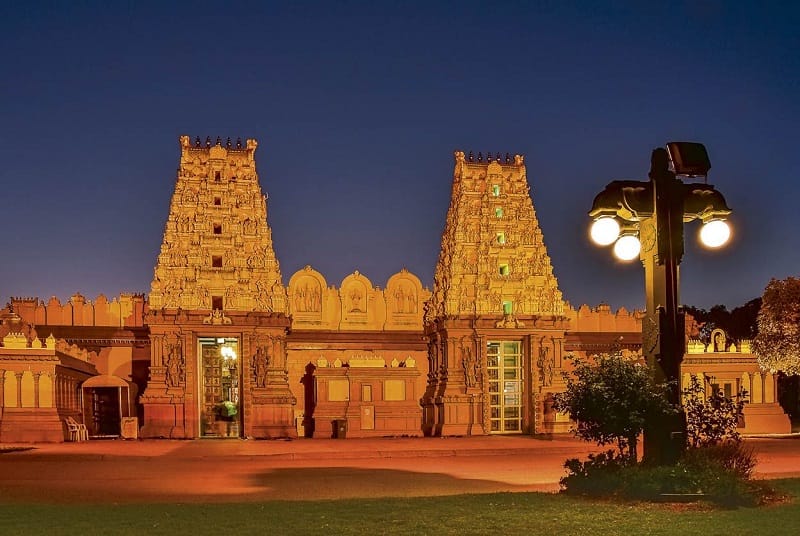
[[[565,298],[615,309],[643,270],[592,200],[699,141],[735,235],[687,226],[681,299],[740,305],[800,273],[797,5],[5,2],[0,299],[148,292],[188,134],[259,141],[284,283],[432,286],[453,151],[524,154]]]

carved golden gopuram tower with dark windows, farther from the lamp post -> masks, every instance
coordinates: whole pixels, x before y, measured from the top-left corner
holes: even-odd
[[[145,437],[297,435],[286,290],[256,173],[257,145],[180,138],[146,320]]]

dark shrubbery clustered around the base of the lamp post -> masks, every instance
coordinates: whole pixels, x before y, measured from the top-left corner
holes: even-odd
[[[567,389],[556,396],[555,407],[576,421],[576,435],[617,449],[583,461],[567,460],[562,492],[624,500],[703,500],[726,507],[776,498],[766,483],[752,479],[755,456],[736,431],[744,393],[736,400],[720,392],[706,396],[693,383],[684,391],[689,448],[674,465],[648,466],[638,462],[636,440],[648,416],[672,411],[666,386],[654,385],[641,362],[620,354],[574,361],[574,376],[565,378]]]

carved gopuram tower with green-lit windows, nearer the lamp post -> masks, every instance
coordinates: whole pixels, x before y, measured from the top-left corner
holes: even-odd
[[[522,156],[455,153],[426,307],[425,434],[543,431],[568,321]]]

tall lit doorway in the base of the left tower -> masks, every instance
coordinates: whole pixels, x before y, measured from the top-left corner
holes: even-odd
[[[241,437],[239,339],[197,340],[200,360],[200,437]]]

